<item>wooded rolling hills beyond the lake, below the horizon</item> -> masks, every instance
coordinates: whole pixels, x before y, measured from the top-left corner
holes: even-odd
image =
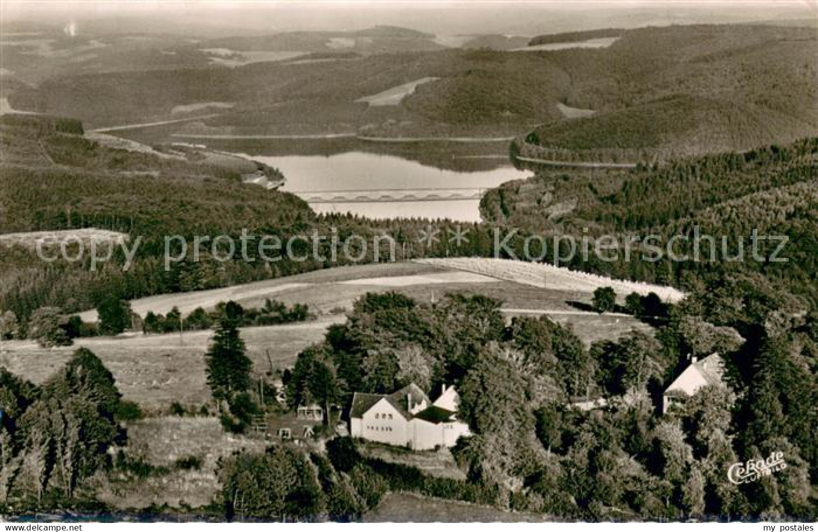
[[[348,34],[354,37],[281,34],[307,39],[312,44],[302,42],[303,52],[312,56],[234,67],[57,75],[37,87],[18,86],[9,101],[16,109],[74,116],[91,128],[185,118],[157,132],[157,140],[173,133],[501,136],[535,129],[533,144],[546,149],[627,155],[639,148],[667,157],[745,150],[818,131],[813,53],[818,37],[811,29],[697,25],[616,31],[608,47],[596,49],[492,51],[435,44],[437,50],[400,53],[380,53],[377,39],[385,34],[388,40],[432,43],[432,36],[393,28]],[[596,33],[532,43],[576,42]],[[290,47],[269,38],[241,39],[210,43],[221,42],[228,59],[242,53],[241,47],[262,54]],[[361,39],[375,39],[370,45],[379,52],[357,55]],[[336,47],[326,48],[330,42]],[[362,101],[424,78],[435,79],[413,87],[396,105]],[[197,118],[210,114],[207,110],[173,113],[209,102],[225,102],[212,113],[218,116]],[[586,116],[567,118],[565,109]]]

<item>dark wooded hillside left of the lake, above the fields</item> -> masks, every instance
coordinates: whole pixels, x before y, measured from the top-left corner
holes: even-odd
[[[308,267],[224,264],[203,250],[200,263],[163,270],[166,235],[237,235],[241,228],[290,235],[315,222],[307,203],[293,194],[243,184],[245,168],[232,168],[232,159],[213,162],[203,154],[147,146],[111,149],[83,136],[79,121],[65,118],[7,115],[0,132],[0,234],[95,228],[130,235],[132,241],[142,238],[128,271],[119,250],[101,270],[91,271],[88,253],[81,262],[49,263],[33,249],[3,244],[0,308],[20,320],[39,306],[90,308],[105,293],[136,297]]]

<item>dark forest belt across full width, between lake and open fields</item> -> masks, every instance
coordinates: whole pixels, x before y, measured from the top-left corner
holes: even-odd
[[[11,122],[14,122],[13,120]],[[40,306],[65,306],[75,312],[92,308],[101,294],[133,298],[228,284],[240,284],[328,265],[305,262],[246,262],[213,259],[201,249],[199,262],[162,264],[164,236],[249,234],[329,235],[330,226],[344,235],[392,235],[398,260],[406,257],[491,257],[496,226],[520,228],[537,235],[657,234],[664,239],[701,231],[730,238],[735,253],[739,236],[756,228],[789,236],[789,262],[569,262],[580,270],[683,286],[691,273],[701,278],[726,273],[761,273],[793,293],[816,298],[816,151],[812,138],[784,147],[683,159],[634,171],[542,171],[528,181],[513,181],[483,199],[487,223],[470,230],[468,245],[451,248],[445,240],[420,244],[429,221],[368,221],[355,217],[316,217],[292,194],[244,185],[236,172],[160,156],[113,150],[79,134],[81,124],[47,119],[33,127],[0,120],[2,142],[13,145],[16,159],[4,159],[0,175],[0,233],[73,230],[94,227],[142,237],[136,260],[122,270],[116,253],[101,270],[88,261],[44,263],[31,250],[7,248],[0,254],[0,309],[25,320]],[[47,125],[43,125],[47,124]],[[58,131],[58,127],[64,131]],[[16,151],[15,151],[16,150]],[[29,154],[30,156],[28,156]],[[30,161],[29,165],[23,162]],[[16,162],[15,162],[16,161]],[[441,222],[445,231],[452,224]],[[684,250],[685,244],[678,249]],[[191,252],[191,250],[188,250]],[[362,260],[371,260],[371,247]],[[579,258],[579,257],[578,257]],[[343,263],[339,262],[339,264]],[[329,265],[329,266],[335,266]]]

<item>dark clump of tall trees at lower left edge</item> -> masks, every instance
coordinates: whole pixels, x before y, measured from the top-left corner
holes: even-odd
[[[0,506],[74,503],[95,472],[110,467],[108,449],[124,433],[119,420],[138,409],[124,401],[110,372],[78,349],[40,386],[0,368]],[[93,499],[93,497],[91,497]]]

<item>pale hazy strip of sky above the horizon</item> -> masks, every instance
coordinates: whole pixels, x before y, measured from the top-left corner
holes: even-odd
[[[600,27],[818,17],[818,0],[0,0],[2,19],[98,31],[272,33],[401,25],[436,34],[537,34]],[[147,23],[151,20],[151,23]]]

